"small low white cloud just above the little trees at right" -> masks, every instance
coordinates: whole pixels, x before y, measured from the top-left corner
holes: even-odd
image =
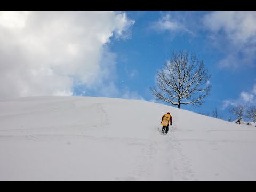
[[[222,110],[225,110],[228,106],[238,106],[238,105],[250,105],[256,104],[256,85],[253,86],[252,91],[246,92],[242,91],[239,94],[238,99],[229,99],[222,101]]]

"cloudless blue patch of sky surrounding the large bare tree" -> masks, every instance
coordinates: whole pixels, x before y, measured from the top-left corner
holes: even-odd
[[[254,95],[252,102],[255,103],[255,92],[253,94],[252,91],[256,85],[256,60],[252,58],[252,62],[249,63],[239,62],[246,56],[243,56],[243,50],[236,50],[236,47],[232,45],[228,39],[229,34],[223,29],[215,34],[203,26],[202,18],[211,12],[128,11],[126,13],[129,18],[135,20],[131,29],[132,37],[126,41],[111,39],[109,45],[110,49],[117,53],[116,85],[119,89],[127,87],[135,92],[138,98],[141,96],[146,101],[151,101],[153,95],[149,87],[155,86],[156,71],[163,68],[163,63],[170,58],[171,51],[183,49],[196,53],[197,57],[204,61],[209,73],[212,74],[210,79],[212,91],[210,96],[204,99],[205,103],[201,107],[182,105],[182,109],[210,113],[211,116],[216,107],[223,119],[229,117],[234,119],[235,116],[227,110],[233,105],[226,107],[225,103],[239,102],[242,92]],[[163,18],[167,15],[169,20],[164,20]],[[160,30],[154,27],[161,21],[180,22],[184,29]],[[239,26],[236,27],[239,28]],[[220,38],[220,41],[212,39],[211,36]],[[255,35],[253,38],[255,41]],[[255,42],[254,45],[256,45]],[[237,53],[233,53],[234,51]],[[230,66],[221,66],[220,62],[233,54],[239,59],[236,61],[237,64],[230,63]],[[248,106],[250,104],[250,102],[246,103]]]

